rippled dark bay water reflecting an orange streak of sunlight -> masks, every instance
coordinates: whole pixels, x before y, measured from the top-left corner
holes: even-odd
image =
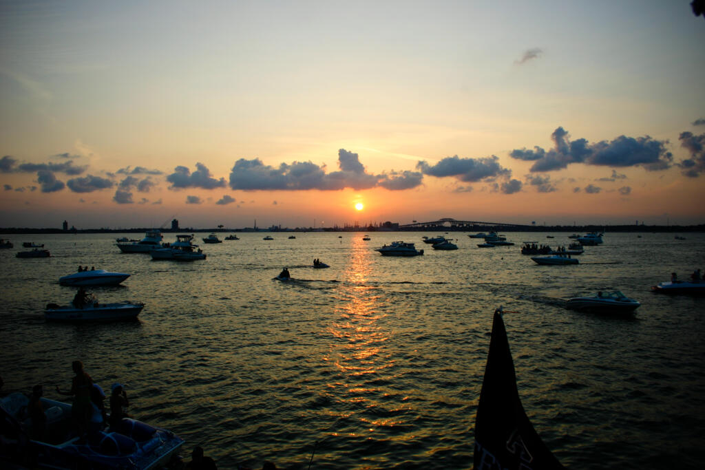
[[[207,234],[197,234],[200,237]],[[226,234],[223,234],[226,235]],[[219,468],[264,460],[305,469],[470,469],[492,312],[505,315],[520,396],[539,435],[579,469],[701,468],[705,447],[704,298],[654,295],[676,271],[705,268],[705,234],[607,233],[578,266],[538,266],[514,247],[422,243],[436,233],[238,234],[192,263],[122,254],[116,234],[15,235],[0,250],[6,391],[68,388],[81,359],[104,388],[127,383],[135,418],[202,445]],[[128,236],[135,237],[135,234]],[[222,237],[222,236],[221,236]],[[173,241],[167,234],[165,241]],[[424,256],[380,256],[416,242]],[[23,241],[50,259],[17,259]],[[314,269],[319,258],[331,268]],[[128,323],[46,323],[75,292],[78,265],[132,273],[101,302],[145,302]],[[288,266],[289,283],[272,280]],[[633,317],[566,310],[619,289]]]

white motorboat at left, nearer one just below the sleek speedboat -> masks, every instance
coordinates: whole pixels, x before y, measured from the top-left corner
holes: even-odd
[[[75,305],[47,304],[44,309],[44,319],[50,321],[120,321],[137,318],[145,307],[141,302],[117,302],[101,304],[93,297],[83,307]]]

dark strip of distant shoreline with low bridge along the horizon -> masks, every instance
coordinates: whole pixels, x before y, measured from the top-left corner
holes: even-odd
[[[603,232],[603,233],[694,233],[705,232],[705,224],[701,225],[477,225],[475,227],[445,227],[436,225],[426,228],[398,228],[396,230],[380,229],[376,227],[343,227],[343,228],[281,228],[271,230],[269,228],[180,228],[179,230],[171,230],[171,228],[154,229],[154,228],[128,228],[128,229],[112,229],[112,228],[86,228],[74,230],[62,230],[61,228],[0,228],[0,235],[13,234],[83,234],[83,233],[145,233],[147,230],[160,230],[161,233],[320,233],[320,232],[354,232],[354,233],[387,233],[387,232],[460,232],[460,233],[477,233],[477,232],[550,232],[550,233],[588,233],[588,232]]]

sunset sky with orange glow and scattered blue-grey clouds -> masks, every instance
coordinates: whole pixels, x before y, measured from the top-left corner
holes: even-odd
[[[0,0],[0,227],[705,223],[703,44],[685,0]]]

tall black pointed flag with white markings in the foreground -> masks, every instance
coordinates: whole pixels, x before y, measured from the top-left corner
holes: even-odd
[[[502,307],[494,312],[474,433],[474,469],[565,468],[541,440],[522,406]]]

